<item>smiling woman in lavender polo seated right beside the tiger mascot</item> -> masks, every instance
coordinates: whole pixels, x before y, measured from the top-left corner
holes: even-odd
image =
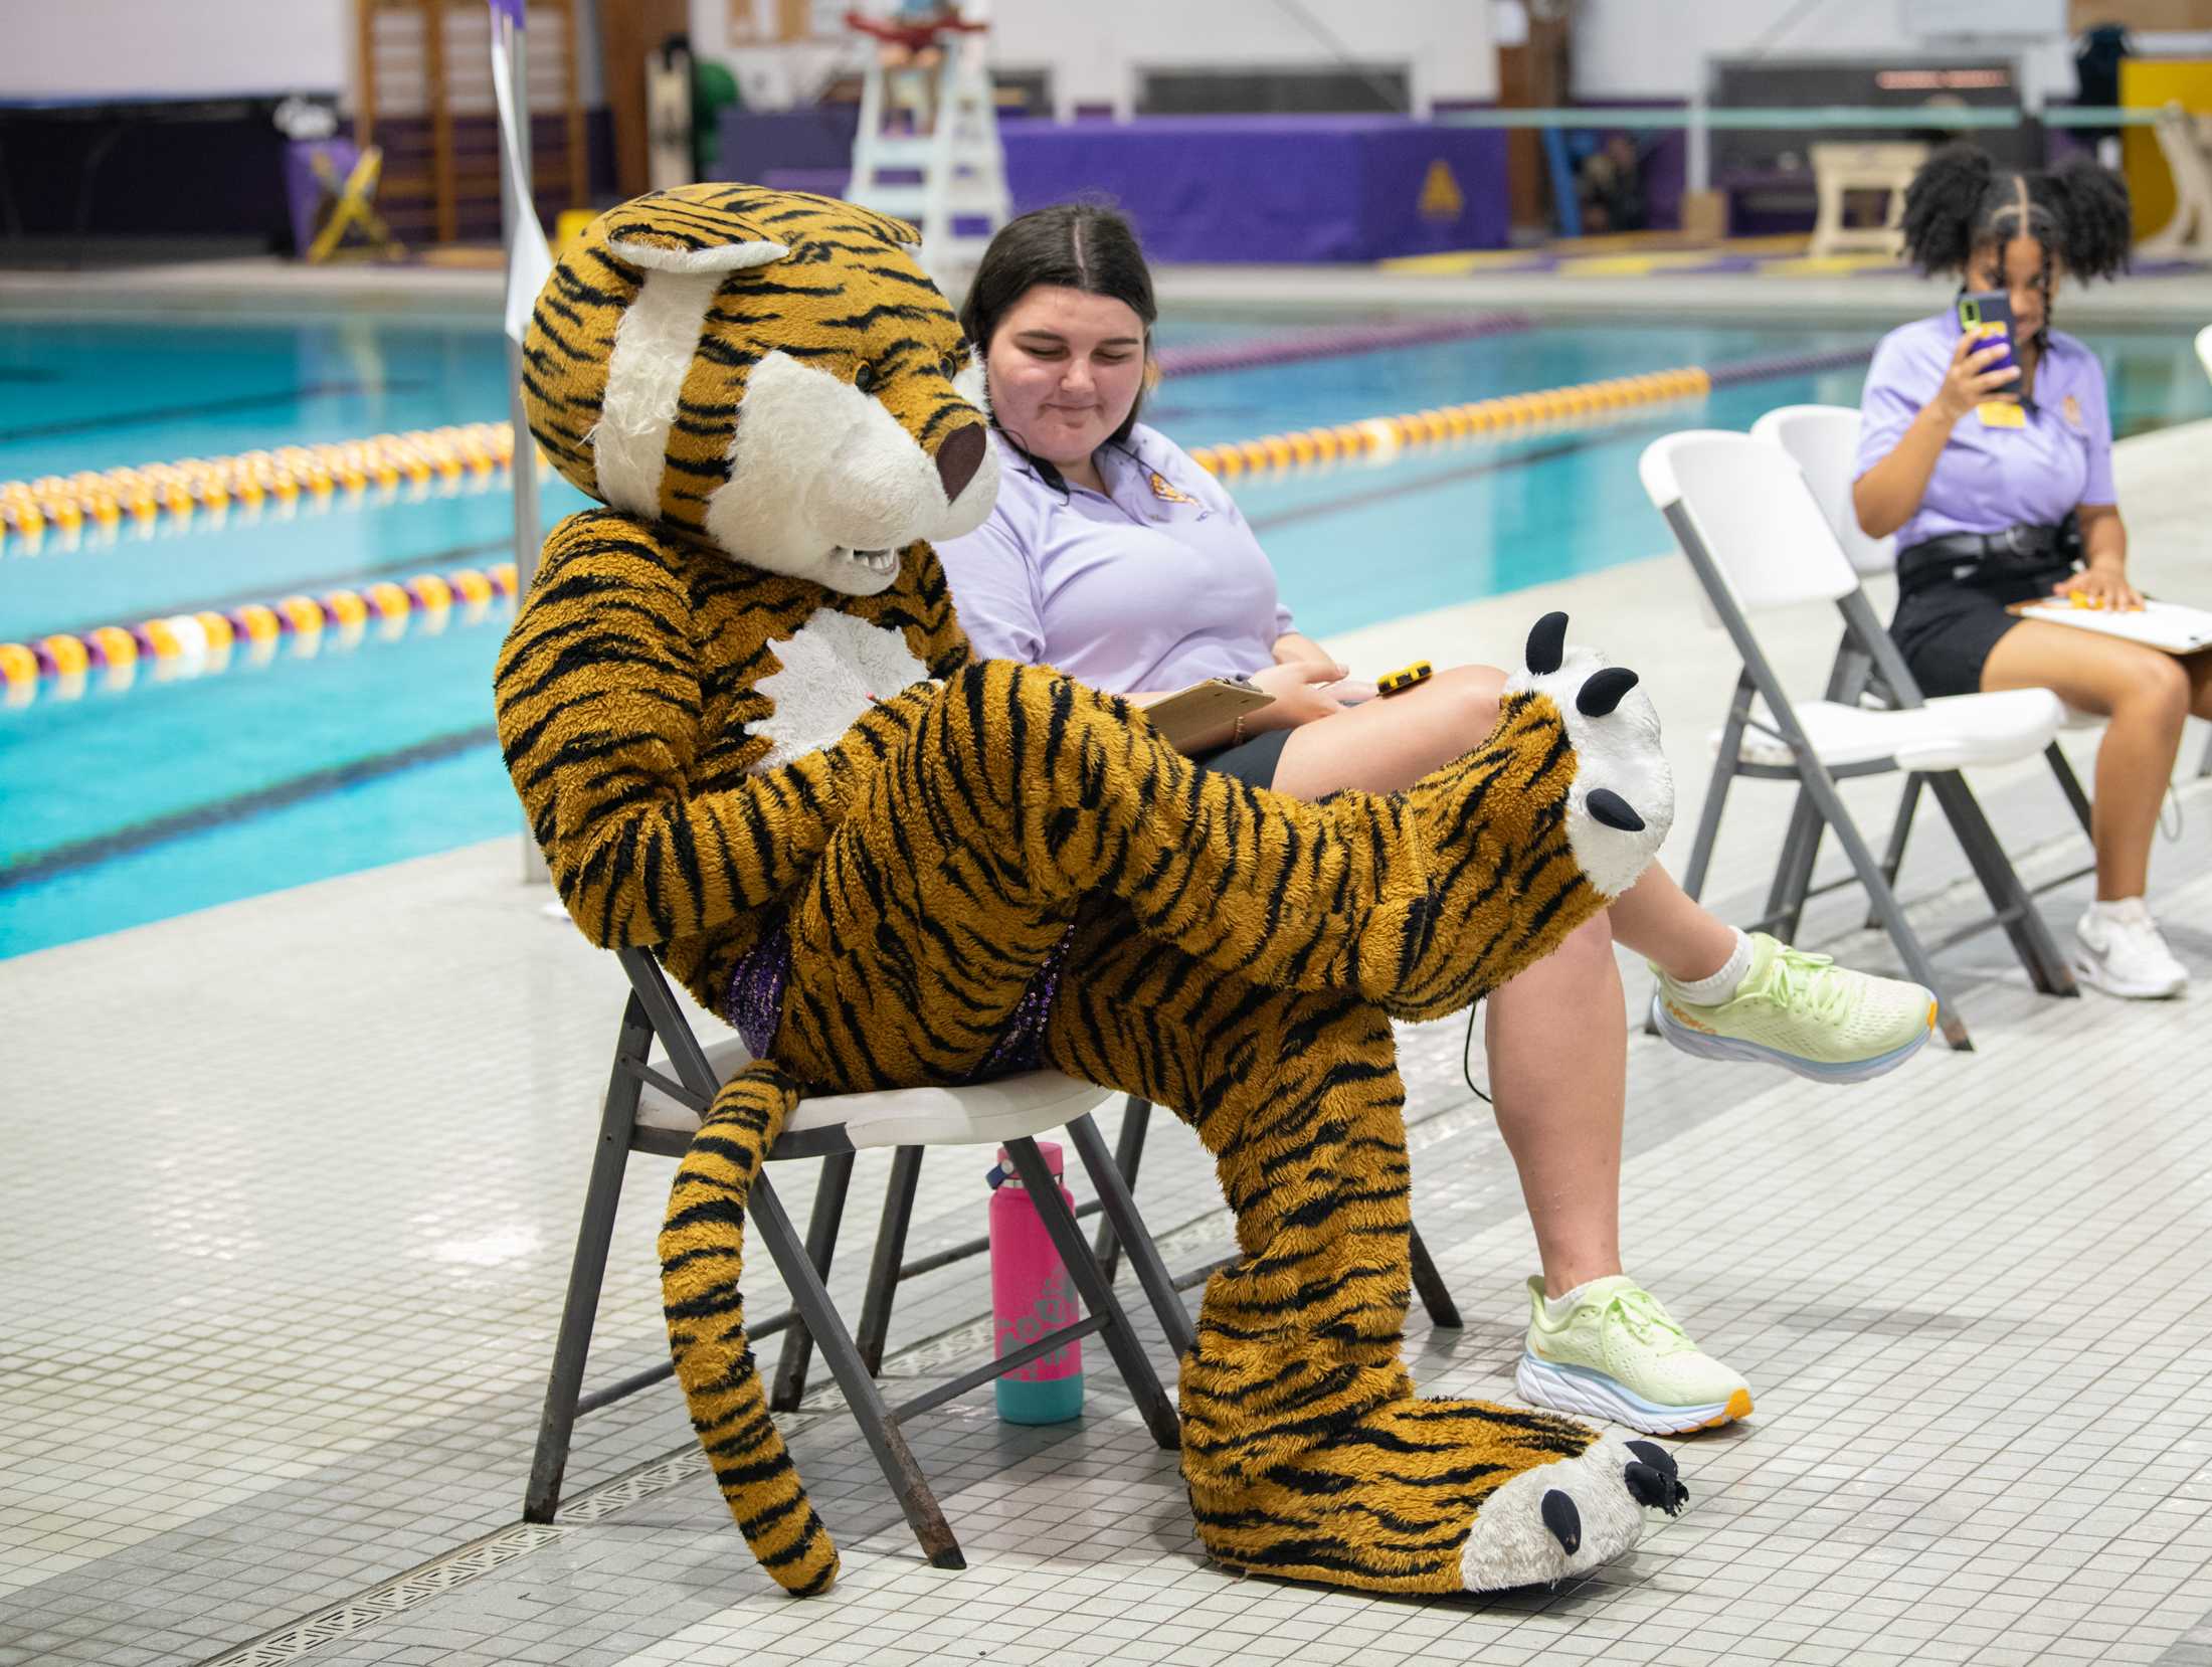
[[[1093,688],[1170,696],[1248,677],[1274,696],[1201,756],[1254,787],[1318,798],[1400,791],[1478,745],[1504,672],[1411,674],[1376,699],[1292,630],[1274,568],[1221,484],[1137,422],[1152,279],[1113,212],[1062,203],[991,241],[962,307],[993,442],[998,506],[938,546],[978,654],[1055,665]],[[982,398],[978,402],[984,402]],[[1863,1081],[1927,1041],[1933,999],[1750,940],[1652,867],[1608,915],[1486,1004],[1498,1125],[1535,1223],[1524,1397],[1641,1430],[1725,1424],[1750,1386],[1701,1353],[1621,1271],[1628,1021],[1615,935],[1655,960],[1677,1046]]]

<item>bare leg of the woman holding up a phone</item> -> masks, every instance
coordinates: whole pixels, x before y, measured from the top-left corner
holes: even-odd
[[[2212,663],[2212,657],[2192,659]],[[2212,712],[2208,679],[2212,672],[2157,648],[2039,621],[2013,626],[1982,663],[1984,690],[2044,688],[2110,719],[2097,747],[2090,807],[2099,902],[2143,895],[2150,838],[2181,752],[2181,721],[2192,705],[2199,714]]]

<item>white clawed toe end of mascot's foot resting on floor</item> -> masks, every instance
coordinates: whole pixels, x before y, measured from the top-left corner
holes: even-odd
[[[1469,1592],[1504,1592],[1588,1574],[1637,1543],[1646,1508],[1672,1517],[1688,1501],[1672,1453],[1599,1437],[1575,1459],[1522,1470],[1482,1501],[1460,1550],[1460,1581]]]

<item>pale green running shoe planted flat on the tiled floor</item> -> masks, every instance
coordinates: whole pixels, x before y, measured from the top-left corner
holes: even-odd
[[[1699,1351],[1659,1298],[1626,1273],[1590,1280],[1566,1320],[1544,1318],[1544,1280],[1528,1280],[1528,1342],[1513,1386],[1524,1402],[1683,1435],[1745,1417],[1752,1386]]]

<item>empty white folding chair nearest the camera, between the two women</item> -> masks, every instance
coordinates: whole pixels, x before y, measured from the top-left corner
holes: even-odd
[[[1944,1037],[1953,1048],[1966,1048],[1966,1026],[1929,951],[1836,791],[1843,776],[1918,772],[1942,805],[1989,893],[1995,922],[2013,940],[2035,988],[2077,995],[2066,957],[2051,942],[2033,898],[1958,774],[1964,765],[2013,763],[2048,747],[2062,719],[2059,699],[2051,690],[2004,690],[1922,701],[1805,475],[1781,447],[1747,433],[1692,429],[1646,447],[1639,473],[1743,659],[1683,889],[1694,898],[1705,884],[1721,809],[1736,776],[1798,783],[1798,809],[1759,924],[1778,922],[1803,904],[1820,836],[1834,829],[1898,955],[1916,979],[1936,990]],[[1845,652],[1836,657],[1827,696],[1818,701],[1790,699],[1747,617],[1805,601],[1834,601],[1845,628]],[[1867,668],[1909,705],[1860,705]]]

